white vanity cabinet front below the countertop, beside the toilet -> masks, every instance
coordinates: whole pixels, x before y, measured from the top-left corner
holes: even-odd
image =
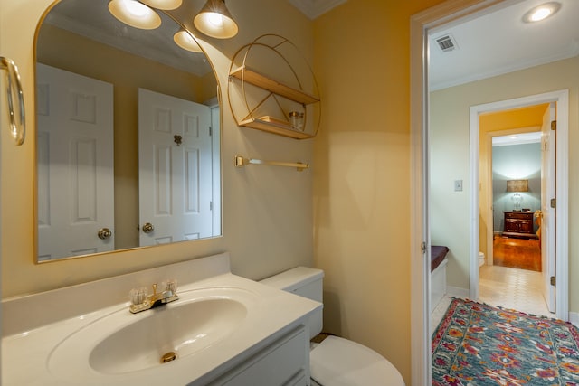
[[[191,383],[196,386],[197,382]],[[209,383],[211,386],[309,385],[309,342],[303,325]]]

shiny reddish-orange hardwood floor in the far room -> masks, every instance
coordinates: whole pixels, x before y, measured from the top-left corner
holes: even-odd
[[[493,264],[541,272],[539,240],[495,237],[493,240]]]

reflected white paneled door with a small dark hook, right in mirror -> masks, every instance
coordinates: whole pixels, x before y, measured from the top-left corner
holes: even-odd
[[[211,110],[138,92],[140,245],[212,235]]]

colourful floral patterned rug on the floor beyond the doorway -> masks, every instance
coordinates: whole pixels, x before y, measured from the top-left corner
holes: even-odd
[[[432,385],[579,385],[579,330],[453,299],[432,335]]]

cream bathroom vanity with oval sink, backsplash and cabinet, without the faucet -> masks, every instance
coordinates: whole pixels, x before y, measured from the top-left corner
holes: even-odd
[[[129,312],[133,287],[166,279],[178,300]],[[308,385],[321,307],[233,275],[228,254],[6,299],[2,384]]]

